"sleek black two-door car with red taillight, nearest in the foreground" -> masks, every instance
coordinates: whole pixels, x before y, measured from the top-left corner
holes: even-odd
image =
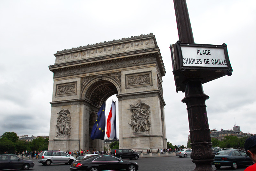
[[[110,155],[88,156],[82,160],[73,161],[70,170],[76,171],[101,171],[101,170],[128,170],[139,169],[138,163],[128,160],[120,160]]]

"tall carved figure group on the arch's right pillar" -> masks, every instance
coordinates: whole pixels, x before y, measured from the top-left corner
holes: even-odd
[[[132,114],[131,124],[128,124],[132,127],[133,132],[148,132],[150,130],[149,108],[150,106],[140,100],[137,101],[136,105],[130,104]]]

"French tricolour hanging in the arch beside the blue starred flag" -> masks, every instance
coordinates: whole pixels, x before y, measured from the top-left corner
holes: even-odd
[[[107,120],[107,136],[116,139],[116,102],[112,101],[112,105]]]

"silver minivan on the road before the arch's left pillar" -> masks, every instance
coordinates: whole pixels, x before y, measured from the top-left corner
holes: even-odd
[[[38,162],[47,166],[51,165],[52,163],[65,163],[71,165],[75,160],[75,157],[66,152],[54,150],[42,151],[38,157]]]

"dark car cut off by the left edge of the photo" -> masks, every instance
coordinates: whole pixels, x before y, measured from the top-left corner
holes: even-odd
[[[28,170],[30,167],[34,167],[35,163],[31,160],[20,159],[16,155],[5,154],[0,155],[0,170],[4,169],[23,169]]]

